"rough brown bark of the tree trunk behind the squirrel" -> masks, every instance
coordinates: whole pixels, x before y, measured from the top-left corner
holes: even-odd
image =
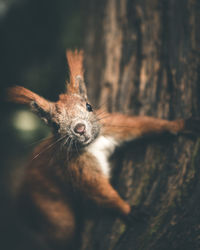
[[[93,103],[166,119],[200,115],[199,0],[89,6],[85,67]],[[130,204],[149,206],[150,215],[127,227],[102,214],[86,223],[81,249],[200,249],[199,161],[195,137],[151,138],[118,150],[113,185]]]

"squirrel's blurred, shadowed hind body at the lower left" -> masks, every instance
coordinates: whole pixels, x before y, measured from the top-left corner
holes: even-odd
[[[77,231],[75,211],[62,165],[57,162],[57,146],[45,151],[51,143],[52,138],[36,148],[34,156],[39,155],[26,169],[18,206],[22,217],[37,230],[47,246],[68,249]],[[40,155],[42,151],[45,152]]]

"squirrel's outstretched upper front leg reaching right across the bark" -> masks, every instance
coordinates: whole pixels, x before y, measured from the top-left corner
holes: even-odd
[[[165,132],[171,134],[200,134],[200,118],[178,119],[168,121],[149,116],[128,116],[113,113],[102,118],[104,135],[111,136],[119,142],[131,141],[148,135],[159,135]]]

